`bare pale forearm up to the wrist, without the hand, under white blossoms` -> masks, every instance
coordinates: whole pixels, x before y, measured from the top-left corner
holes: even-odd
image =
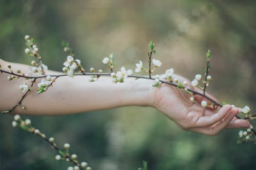
[[[7,65],[11,64],[13,70],[22,69],[24,72],[31,72],[30,66],[5,62],[2,67],[8,70]],[[61,72],[48,71],[47,74],[59,75]],[[1,98],[0,110],[8,110],[14,106],[23,93],[19,85],[28,80],[23,78],[8,81],[7,74],[0,74]],[[102,110],[121,106],[148,106],[154,98],[152,80],[135,80],[128,78],[124,83],[114,84],[110,77],[100,77],[96,82],[89,82],[89,76],[59,77],[46,92],[37,94],[36,84],[23,100],[25,110],[17,107],[13,113],[33,115],[60,115]]]

